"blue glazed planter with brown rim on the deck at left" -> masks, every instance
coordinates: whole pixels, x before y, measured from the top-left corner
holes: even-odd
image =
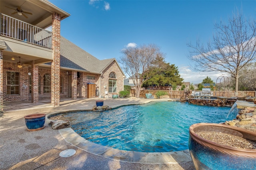
[[[25,124],[28,131],[36,131],[44,128],[45,114],[38,113],[32,115],[26,115]]]

